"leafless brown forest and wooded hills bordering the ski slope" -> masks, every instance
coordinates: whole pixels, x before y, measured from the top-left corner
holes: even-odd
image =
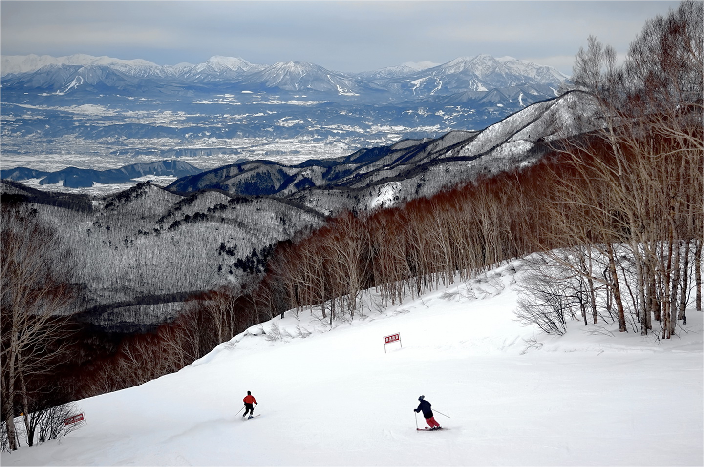
[[[525,324],[677,335],[702,309],[702,20],[701,2],[649,20],[622,65],[589,37],[565,89],[590,96],[589,128],[391,207],[3,181],[3,449],[17,449],[20,414],[31,445],[51,437],[41,414],[178,371],[275,316],[345,321],[516,258],[532,270]]]

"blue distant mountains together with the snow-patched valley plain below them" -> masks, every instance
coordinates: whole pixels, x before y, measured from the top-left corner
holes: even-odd
[[[401,139],[481,131],[569,83],[554,68],[488,55],[363,73],[220,56],[197,65],[86,55],[1,63],[4,169],[45,169],[32,165],[44,154],[80,167],[99,161],[93,169],[135,157],[198,157],[206,169],[241,158],[339,158]]]

